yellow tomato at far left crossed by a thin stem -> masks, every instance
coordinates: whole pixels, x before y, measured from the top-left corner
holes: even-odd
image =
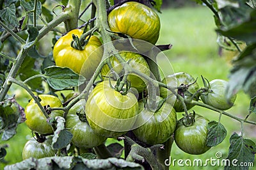
[[[58,97],[53,95],[38,95],[38,97],[41,99],[40,104],[42,104],[42,106],[50,105],[50,107],[62,107]],[[53,132],[51,125],[47,123],[47,119],[35,100],[31,99],[24,111],[26,114],[25,123],[31,130],[39,134],[51,134]],[[63,111],[52,111],[51,114],[49,114],[51,118],[62,115]]]

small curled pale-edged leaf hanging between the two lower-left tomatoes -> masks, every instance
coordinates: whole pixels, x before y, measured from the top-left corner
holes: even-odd
[[[73,135],[65,129],[64,118],[57,116],[54,120],[57,122],[57,129],[54,131],[54,136],[52,137],[52,148],[58,150],[65,148],[71,142]]]

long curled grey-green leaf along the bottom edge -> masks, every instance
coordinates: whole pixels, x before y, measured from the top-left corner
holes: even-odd
[[[84,166],[81,166],[83,164]],[[54,168],[53,168],[54,167]],[[83,167],[83,169],[140,169],[143,167],[134,162],[127,162],[124,159],[107,158],[88,160],[82,157],[45,157],[28,158],[17,164],[8,165],[4,170],[22,169],[73,169]]]

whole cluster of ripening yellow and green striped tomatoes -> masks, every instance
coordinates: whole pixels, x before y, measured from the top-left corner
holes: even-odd
[[[140,12],[139,16],[138,12]],[[138,17],[132,19],[131,16],[135,14]],[[155,44],[159,37],[159,17],[154,10],[140,3],[128,2],[118,6],[109,13],[108,23],[113,32],[123,33],[152,44]],[[74,72],[83,74],[86,79],[90,79],[102,59],[103,49],[95,52],[102,43],[97,36],[92,35],[84,47],[79,49],[71,47],[70,43],[74,37],[72,35],[79,38],[82,34],[83,31],[75,29],[62,36],[54,45],[53,57],[57,66],[67,66]],[[150,76],[150,68],[141,54],[120,52],[120,56],[125,61],[129,61],[132,68]],[[93,148],[104,143],[108,137],[118,137],[132,130],[140,141],[150,145],[164,143],[174,134],[177,146],[187,153],[202,154],[209,150],[206,146],[209,120],[195,114],[190,125],[182,120],[177,121],[177,112],[184,112],[184,105],[173,91],[163,87],[160,88],[160,96],[153,97],[156,100],[154,104],[157,105],[148,106],[150,98],[134,95],[129,90],[135,88],[139,94],[145,94],[147,83],[134,74],[128,74],[123,85],[122,81],[111,79],[110,70],[120,73],[123,68],[114,56],[111,56],[109,61],[112,68],[109,68],[109,65],[102,68],[100,72],[102,81],[93,88],[88,100],[80,100],[68,111],[65,127],[73,135],[74,146]],[[168,87],[177,87],[174,90],[184,99],[201,98],[205,104],[222,110],[232,107],[236,99],[234,97],[227,102],[224,95],[227,82],[223,80],[209,82],[204,93],[199,93],[200,88],[196,80],[188,73],[168,75],[163,79],[163,83]],[[63,107],[57,97],[52,95],[38,95],[38,97],[43,106]],[[186,104],[187,109],[193,106]],[[47,119],[34,100],[26,106],[25,113],[28,127],[33,132],[47,137],[40,142],[34,138],[29,140],[24,146],[23,158],[54,156],[55,151],[51,147],[52,137],[49,135],[53,133],[52,127],[47,123]],[[53,110],[49,116],[51,118],[63,116],[63,111]]]

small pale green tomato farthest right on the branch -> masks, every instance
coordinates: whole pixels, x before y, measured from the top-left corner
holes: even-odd
[[[207,92],[207,94],[202,93],[200,95],[202,101],[205,104],[211,105],[223,111],[230,109],[236,101],[236,95],[234,95],[229,102],[227,101],[227,98],[225,97],[227,85],[227,81],[221,79],[212,80],[209,82],[209,92]]]

